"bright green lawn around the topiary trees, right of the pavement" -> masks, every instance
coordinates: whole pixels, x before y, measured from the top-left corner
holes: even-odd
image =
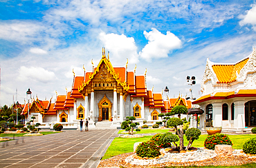
[[[147,129],[145,129],[147,130]],[[154,130],[154,129],[152,129]],[[158,129],[161,130],[161,129]],[[198,140],[194,140],[192,144],[193,147],[203,147],[204,140],[208,135],[199,136]],[[230,140],[232,140],[233,149],[242,149],[244,142],[250,138],[256,138],[256,135],[228,135]],[[152,136],[144,136],[143,138],[115,138],[109,148],[107,149],[106,154],[102,159],[111,158],[119,154],[125,154],[134,151],[134,143],[144,142],[152,138]],[[179,144],[179,143],[178,143]],[[184,145],[188,145],[188,140],[184,136]]]

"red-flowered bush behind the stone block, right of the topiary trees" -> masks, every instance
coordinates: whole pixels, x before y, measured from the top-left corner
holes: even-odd
[[[204,146],[207,149],[214,149],[215,145],[233,145],[230,138],[226,134],[213,134],[208,136],[204,141]]]

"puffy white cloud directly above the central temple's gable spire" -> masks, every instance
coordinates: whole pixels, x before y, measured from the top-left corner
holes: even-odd
[[[103,42],[106,50],[109,50],[111,61],[125,64],[126,59],[129,59],[129,63],[138,62],[137,46],[133,37],[127,37],[124,34],[101,32],[99,39]]]

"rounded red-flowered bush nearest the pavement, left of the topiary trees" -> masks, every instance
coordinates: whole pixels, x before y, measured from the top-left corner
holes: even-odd
[[[138,145],[136,154],[142,158],[154,158],[160,155],[160,149],[154,141],[149,140]]]

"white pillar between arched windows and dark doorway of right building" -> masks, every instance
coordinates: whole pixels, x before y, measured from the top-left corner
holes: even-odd
[[[244,128],[246,126],[244,118],[244,101],[236,101],[235,103],[235,114],[234,114],[234,127]]]

